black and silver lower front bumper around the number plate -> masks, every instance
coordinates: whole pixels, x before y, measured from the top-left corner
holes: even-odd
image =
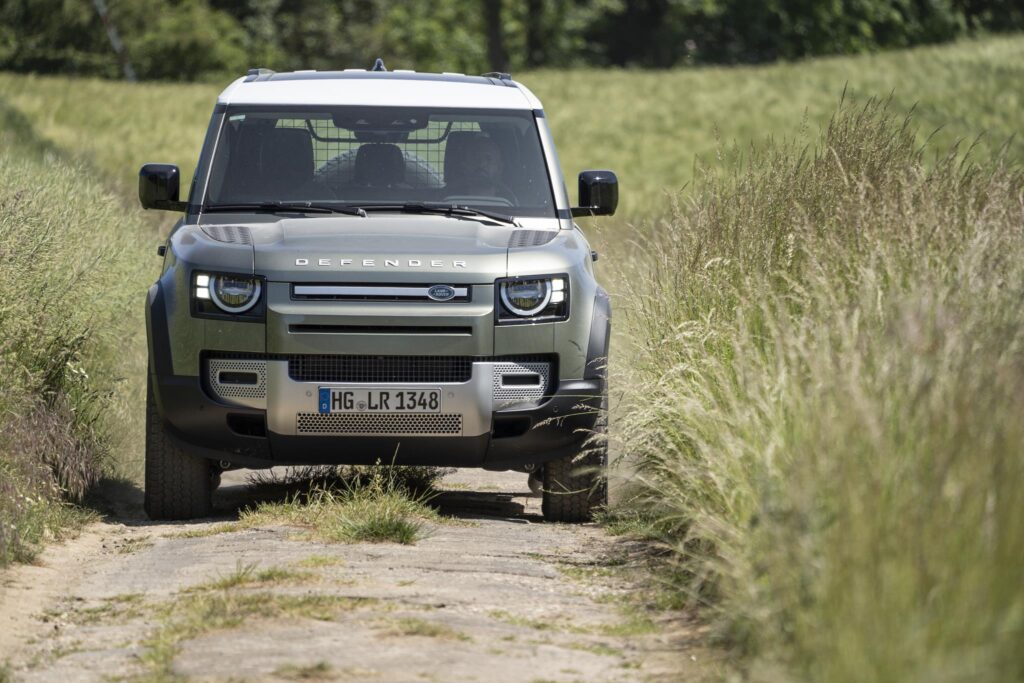
[[[374,464],[510,469],[578,451],[590,436],[604,391],[603,379],[552,384],[539,400],[496,400],[501,358],[477,359],[469,381],[416,384],[439,388],[443,413],[459,416],[438,431],[426,423],[413,433],[349,433],[303,429],[315,416],[321,386],[384,388],[409,383],[305,382],[293,379],[287,360],[266,361],[264,405],[260,399],[218,399],[209,378],[156,374],[158,409],[172,438],[191,453],[237,465]],[[233,404],[232,404],[233,403]],[[315,417],[309,418],[315,420]],[[307,419],[308,426],[308,419]],[[369,427],[367,429],[373,429]]]

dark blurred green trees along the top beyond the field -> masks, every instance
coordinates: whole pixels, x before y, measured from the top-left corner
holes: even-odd
[[[141,79],[250,67],[482,73],[763,62],[1024,29],[1020,0],[0,0],[0,70]]]

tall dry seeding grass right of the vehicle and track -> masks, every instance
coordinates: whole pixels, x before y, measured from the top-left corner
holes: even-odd
[[[1024,179],[914,135],[733,151],[625,273],[631,505],[750,680],[1024,679]]]

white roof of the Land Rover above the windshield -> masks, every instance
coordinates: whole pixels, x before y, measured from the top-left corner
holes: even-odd
[[[541,101],[511,80],[414,72],[263,72],[231,83],[221,104],[438,106],[539,110]]]

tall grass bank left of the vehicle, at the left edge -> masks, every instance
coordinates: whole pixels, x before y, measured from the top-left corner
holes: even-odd
[[[129,469],[157,267],[139,213],[0,106],[0,566],[87,519],[68,502]]]

